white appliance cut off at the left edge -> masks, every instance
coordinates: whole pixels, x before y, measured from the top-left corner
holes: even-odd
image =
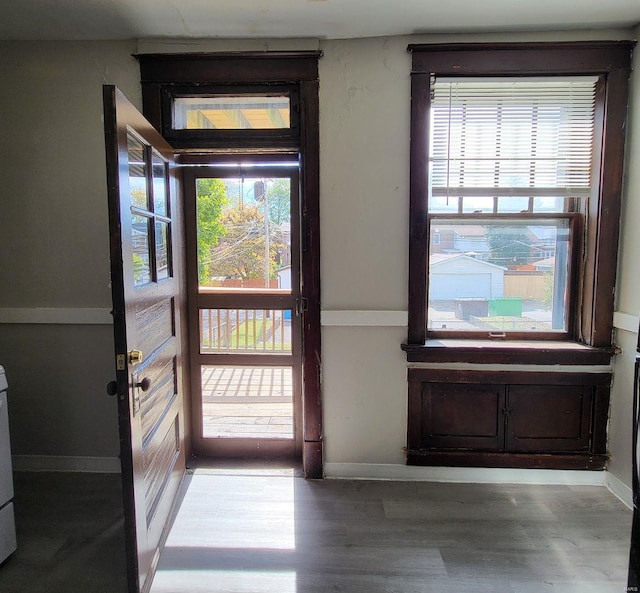
[[[13,474],[7,410],[7,376],[0,366],[0,564],[16,549],[13,515]]]

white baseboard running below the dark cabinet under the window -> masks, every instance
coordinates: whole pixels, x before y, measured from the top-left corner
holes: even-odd
[[[423,467],[378,463],[326,463],[326,478],[356,480],[416,480],[476,484],[557,484],[604,486],[604,471]]]

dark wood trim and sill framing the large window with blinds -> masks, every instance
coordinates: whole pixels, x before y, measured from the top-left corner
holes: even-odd
[[[409,361],[601,364],[612,353],[613,305],[624,162],[625,119],[634,43],[482,43],[410,45],[411,154],[409,234]],[[427,199],[429,104],[433,75],[597,75],[594,158],[599,184],[583,212],[586,232],[574,332],[553,348],[535,340],[519,346],[490,340],[430,341],[427,335]],[[606,133],[606,137],[605,137]],[[487,344],[486,342],[490,342]],[[560,345],[561,344],[561,345]],[[480,360],[476,360],[479,356]]]

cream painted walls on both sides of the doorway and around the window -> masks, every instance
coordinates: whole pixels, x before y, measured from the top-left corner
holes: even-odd
[[[328,463],[404,462],[407,363],[400,344],[406,337],[408,261],[407,44],[629,36],[601,31],[320,43]],[[161,49],[157,46],[154,51]],[[140,105],[139,71],[131,57],[137,47],[133,42],[0,45],[0,252],[9,254],[0,265],[0,322],[36,316],[96,322],[0,323],[0,364],[9,375],[18,455],[117,455],[115,401],[104,392],[113,374],[111,327],[100,313],[110,307],[101,85],[118,85]],[[206,49],[218,47],[241,49],[242,42],[233,47],[209,42]],[[640,97],[637,79],[634,97]],[[640,155],[640,109],[634,110],[631,128],[633,162]],[[640,169],[628,171],[618,308],[637,315]],[[363,319],[366,326],[358,326]],[[611,468],[626,483],[630,393],[625,383],[634,339],[626,339],[626,354],[616,363],[620,374],[611,420]]]

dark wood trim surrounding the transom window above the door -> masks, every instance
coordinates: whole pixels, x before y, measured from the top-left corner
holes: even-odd
[[[155,128],[181,152],[216,150],[246,152],[265,149],[291,152],[300,148],[309,127],[312,97],[322,53],[221,52],[215,54],[140,54],[144,113]],[[307,88],[307,93],[304,89]],[[173,130],[171,97],[184,93],[284,92],[291,96],[293,126],[280,130]],[[300,123],[299,123],[300,122]],[[213,133],[212,133],[213,132]]]

